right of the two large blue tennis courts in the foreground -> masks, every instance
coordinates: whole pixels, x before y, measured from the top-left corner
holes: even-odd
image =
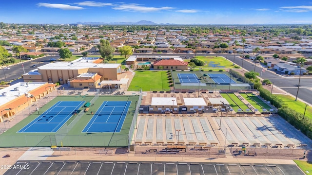
[[[130,105],[128,101],[104,101],[82,132],[120,132]]]

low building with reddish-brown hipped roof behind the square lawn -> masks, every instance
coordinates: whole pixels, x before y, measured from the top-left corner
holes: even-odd
[[[154,70],[188,70],[188,64],[180,60],[159,60],[154,62]]]

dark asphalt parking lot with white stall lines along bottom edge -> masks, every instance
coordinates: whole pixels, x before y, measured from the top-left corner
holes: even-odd
[[[304,175],[296,165],[190,162],[20,161],[4,175]]]

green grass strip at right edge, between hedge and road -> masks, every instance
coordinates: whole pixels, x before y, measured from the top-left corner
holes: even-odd
[[[300,101],[294,101],[295,98],[289,95],[275,95],[275,96],[277,96],[278,98],[281,98],[285,102],[285,104],[288,105],[289,108],[297,112],[300,112],[303,115],[305,107],[306,107],[305,103],[300,102]],[[307,106],[305,117],[312,119],[312,107],[311,106]]]

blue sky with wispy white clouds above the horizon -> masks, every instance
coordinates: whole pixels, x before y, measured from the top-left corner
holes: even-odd
[[[312,23],[312,0],[4,0],[4,23]]]

